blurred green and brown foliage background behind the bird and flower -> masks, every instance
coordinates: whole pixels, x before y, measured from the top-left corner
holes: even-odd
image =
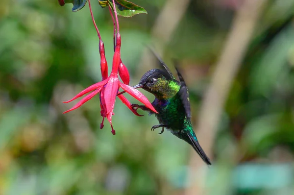
[[[148,14],[119,18],[130,85],[158,68],[146,45],[173,73],[178,59],[213,166],[168,131],[151,132],[155,117],[119,100],[115,136],[108,122],[99,129],[98,97],[62,114],[76,102],[62,101],[101,79],[88,6],[73,13],[57,0],[1,0],[0,195],[294,194],[294,0],[133,2]],[[92,6],[111,65],[112,21]],[[223,105],[205,110],[205,98],[219,100],[208,93],[214,87]],[[215,126],[198,126],[203,113]]]

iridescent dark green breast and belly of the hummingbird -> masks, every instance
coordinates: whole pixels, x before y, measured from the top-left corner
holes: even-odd
[[[172,131],[185,128],[185,109],[177,95],[169,99],[155,98],[152,105],[158,112],[155,116],[160,124],[165,124]]]

